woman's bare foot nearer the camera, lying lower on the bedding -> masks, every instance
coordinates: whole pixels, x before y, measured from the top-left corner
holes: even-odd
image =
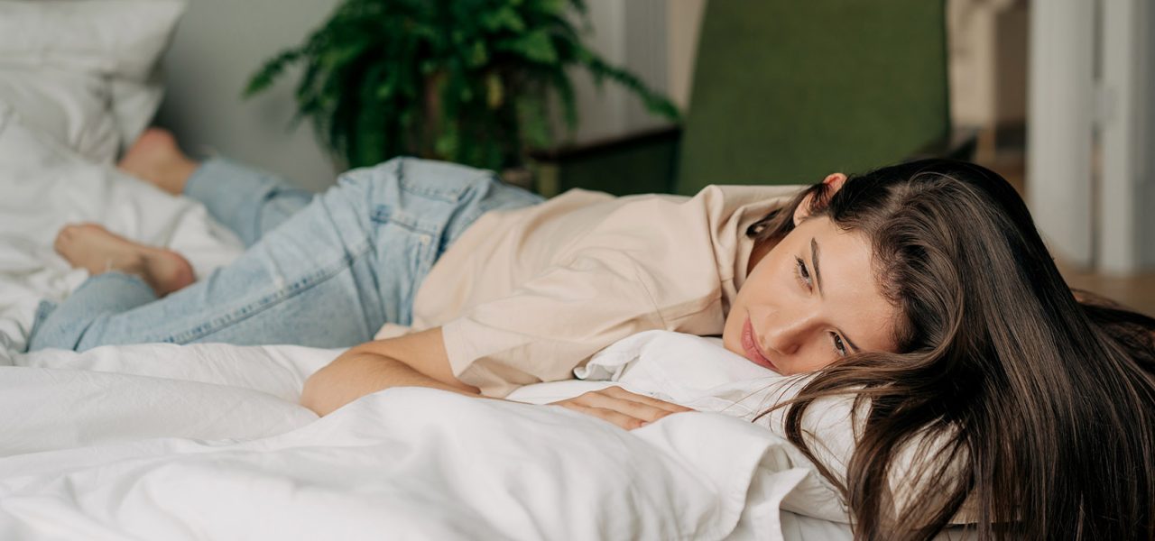
[[[57,253],[73,268],[95,275],[120,271],[144,279],[157,296],[164,296],[193,283],[193,266],[180,254],[154,248],[117,235],[97,224],[68,225],[60,230]]]

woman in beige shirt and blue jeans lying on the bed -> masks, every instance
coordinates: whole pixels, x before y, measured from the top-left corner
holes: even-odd
[[[924,539],[956,516],[984,538],[1155,536],[1155,322],[1076,301],[1022,201],[982,167],[926,160],[832,174],[784,203],[773,188],[539,203],[487,180],[444,178],[471,170],[390,163],[370,170],[387,179],[346,178],[305,206],[308,196],[284,195],[271,179],[191,163],[164,137],[150,134],[122,165],[204,201],[249,250],[184,287],[176,254],[66,230],[60,251],[99,276],[43,310],[33,348],[352,344],[375,321],[417,329],[356,346],[311,377],[301,401],[325,414],[401,385],[500,397],[568,377],[588,354],[644,329],[721,335],[752,362],[813,375],[781,405],[806,452],[806,407],[857,397],[848,475],[826,475],[862,538]],[[213,170],[232,179],[237,200],[213,186]],[[416,173],[433,174],[407,185]],[[128,273],[102,273],[109,266]],[[331,303],[344,290],[358,294]],[[616,388],[561,405],[626,428],[684,411]],[[892,467],[911,453],[915,468],[892,490]]]

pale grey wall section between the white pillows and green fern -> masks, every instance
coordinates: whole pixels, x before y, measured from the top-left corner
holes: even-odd
[[[240,92],[261,62],[300,43],[337,0],[189,0],[164,59],[166,96],[156,123],[186,151],[216,149],[281,173],[299,186],[329,186],[335,170],[296,111],[296,76],[248,100]]]

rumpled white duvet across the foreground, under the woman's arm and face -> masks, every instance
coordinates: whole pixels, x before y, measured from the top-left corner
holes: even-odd
[[[12,355],[0,367],[0,411],[18,412],[0,415],[0,539],[783,539],[783,519],[800,539],[807,519],[780,512],[783,499],[810,514],[827,502],[792,446],[722,413],[625,431],[557,406],[394,389],[318,420],[295,400],[338,353],[206,344]],[[638,335],[589,368],[707,411],[743,415],[768,398],[717,385],[761,369],[685,335]]]

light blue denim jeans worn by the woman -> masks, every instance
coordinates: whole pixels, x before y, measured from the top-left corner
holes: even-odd
[[[188,179],[185,195],[237,233],[244,255],[164,299],[135,276],[94,276],[59,305],[40,305],[29,350],[353,346],[385,323],[411,322],[430,268],[482,213],[543,201],[492,172],[416,158],[350,171],[318,196],[211,159]]]

